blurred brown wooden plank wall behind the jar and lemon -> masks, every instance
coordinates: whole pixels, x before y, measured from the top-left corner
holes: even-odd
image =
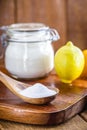
[[[0,0],[0,26],[24,22],[55,28],[61,37],[55,50],[68,40],[87,48],[87,0]]]

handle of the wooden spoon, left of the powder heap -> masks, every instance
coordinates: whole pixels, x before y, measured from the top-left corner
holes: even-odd
[[[23,89],[25,89],[28,86],[28,84],[16,81],[12,78],[10,78],[9,76],[7,76],[6,74],[4,74],[3,72],[0,71],[0,81],[13,93],[15,94],[17,97],[23,99],[24,101],[28,102],[28,98],[26,98],[25,96],[20,94],[20,91],[22,91]]]

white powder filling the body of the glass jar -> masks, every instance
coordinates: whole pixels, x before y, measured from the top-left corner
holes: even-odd
[[[54,51],[50,41],[46,43],[9,42],[5,52],[5,67],[17,78],[38,78],[54,67]]]

